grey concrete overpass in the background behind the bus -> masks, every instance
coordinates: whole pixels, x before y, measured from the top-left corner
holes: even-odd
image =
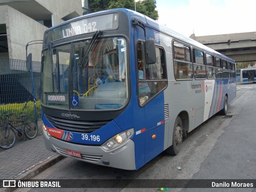
[[[236,62],[256,61],[256,32],[198,36],[190,38],[208,46]]]

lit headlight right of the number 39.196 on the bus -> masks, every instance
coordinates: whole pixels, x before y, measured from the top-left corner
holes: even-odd
[[[102,146],[100,146],[100,147],[106,151],[112,150],[112,149],[120,146],[120,144],[126,142],[128,139],[130,139],[132,137],[133,133],[134,133],[134,128],[131,128],[127,131],[124,131],[124,132],[117,134],[114,137],[110,138],[104,144],[102,144]]]

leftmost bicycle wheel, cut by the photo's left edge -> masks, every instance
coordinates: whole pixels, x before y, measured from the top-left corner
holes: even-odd
[[[8,126],[0,128],[0,148],[10,149],[16,142],[16,134],[12,128]]]

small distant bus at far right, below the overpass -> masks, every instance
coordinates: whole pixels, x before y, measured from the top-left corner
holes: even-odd
[[[256,82],[256,68],[237,69],[236,81],[241,83]]]

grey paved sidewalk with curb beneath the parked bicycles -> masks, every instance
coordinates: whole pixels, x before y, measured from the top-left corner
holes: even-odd
[[[0,149],[0,179],[30,179],[63,158],[46,150],[42,135],[16,142],[10,149]]]

